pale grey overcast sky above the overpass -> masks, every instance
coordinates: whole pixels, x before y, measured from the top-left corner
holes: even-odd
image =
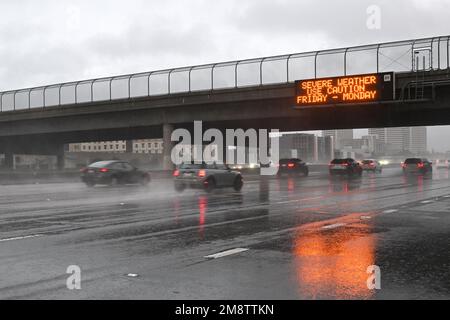
[[[1,0],[0,91],[449,35],[449,16],[450,0]],[[429,136],[450,150],[450,128]]]

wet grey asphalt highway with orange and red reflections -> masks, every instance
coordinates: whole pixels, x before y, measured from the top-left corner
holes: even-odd
[[[0,259],[0,299],[449,299],[449,172],[0,186]]]

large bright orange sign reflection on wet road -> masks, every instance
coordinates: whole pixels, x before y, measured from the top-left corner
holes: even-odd
[[[357,230],[355,230],[357,228]],[[375,264],[376,239],[370,227],[352,224],[329,231],[299,231],[294,255],[299,293],[311,299],[370,299],[367,267]]]

